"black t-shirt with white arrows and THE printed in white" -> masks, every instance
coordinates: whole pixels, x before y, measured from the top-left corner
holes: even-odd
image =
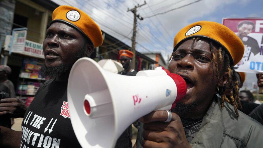
[[[81,147],[70,122],[67,81],[41,87],[22,122],[20,147]]]

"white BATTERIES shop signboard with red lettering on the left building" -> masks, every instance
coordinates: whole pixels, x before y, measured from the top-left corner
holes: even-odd
[[[14,31],[12,53],[44,59],[43,45],[26,40],[27,30]]]

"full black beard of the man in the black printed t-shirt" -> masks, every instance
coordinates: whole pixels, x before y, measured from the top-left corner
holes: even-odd
[[[83,58],[86,56],[86,45],[80,48],[80,50],[75,54],[75,62],[79,58]],[[74,62],[74,63],[75,63]],[[72,68],[73,64],[66,65],[66,64],[59,64],[55,67],[48,67],[45,63],[41,66],[40,72],[41,72],[41,78],[56,78],[56,76],[60,76],[64,73],[69,73],[70,69]]]

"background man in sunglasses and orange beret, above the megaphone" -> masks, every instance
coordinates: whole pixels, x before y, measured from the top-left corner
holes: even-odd
[[[131,52],[130,50],[122,49],[119,51],[119,55],[120,63],[122,63],[122,66],[124,68],[124,70],[119,74],[135,76],[137,72],[131,68],[131,59],[134,56],[133,52]]]

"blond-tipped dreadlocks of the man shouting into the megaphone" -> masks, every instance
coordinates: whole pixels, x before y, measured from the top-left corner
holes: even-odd
[[[199,40],[200,38],[193,38],[193,40]],[[222,47],[218,48],[218,60],[216,61],[215,53],[214,53],[214,48],[213,48],[213,41],[210,41],[209,43],[209,49],[212,55],[212,60],[211,63],[215,63],[215,68],[216,68],[216,79],[219,80],[219,75],[222,74],[223,72],[227,72],[227,85],[230,87],[230,98],[227,98],[225,95],[225,90],[226,86],[223,87],[218,87],[217,93],[221,96],[222,98],[222,103],[221,103],[221,109],[223,109],[224,102],[227,101],[231,103],[234,106],[236,116],[239,116],[239,113],[237,111],[237,108],[242,109],[242,106],[240,104],[239,100],[239,83],[238,79],[236,77],[235,69],[232,64],[230,64],[230,58],[228,53],[226,53],[225,50],[222,50]],[[170,59],[173,57],[174,52],[170,56]],[[169,59],[169,60],[170,60]],[[218,66],[223,63],[223,69],[221,70],[221,73],[218,71]],[[233,74],[231,74],[233,72]],[[234,81],[234,84],[232,83]],[[229,100],[230,99],[230,100]]]

